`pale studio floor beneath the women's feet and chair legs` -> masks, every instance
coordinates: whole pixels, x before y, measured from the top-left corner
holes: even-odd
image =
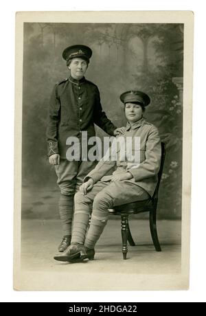
[[[135,247],[128,245],[128,258],[122,258],[122,238],[119,219],[108,221],[98,244],[95,247],[95,260],[76,264],[58,262],[54,255],[62,238],[60,221],[28,220],[21,223],[21,271],[27,275],[67,275],[72,279],[68,289],[116,289],[121,278],[125,278],[125,289],[133,289],[130,277],[135,275],[175,275],[181,272],[181,221],[158,221],[158,233],[162,251],[155,251],[150,237],[148,220],[132,218],[130,230],[136,242]],[[31,274],[32,273],[32,274]],[[51,274],[52,273],[52,274]],[[78,275],[78,279],[75,279]],[[81,284],[81,278],[89,275],[91,284]],[[97,278],[95,279],[95,275]],[[108,282],[115,275],[115,283]],[[100,278],[101,276],[101,278]],[[101,284],[98,284],[99,278]],[[95,282],[94,282],[95,279]],[[66,280],[62,278],[62,280]],[[102,281],[103,280],[103,281]],[[34,280],[33,280],[34,281]],[[49,281],[50,284],[51,280]],[[67,282],[67,281],[65,281]],[[34,282],[35,283],[35,282]],[[104,284],[105,283],[105,284]],[[25,289],[38,289],[25,284]],[[108,285],[109,284],[109,285]],[[23,284],[21,284],[21,288]],[[56,290],[65,289],[63,284],[53,284]],[[48,285],[49,286],[49,285]],[[52,286],[50,284],[50,286]],[[49,289],[47,286],[43,289]]]

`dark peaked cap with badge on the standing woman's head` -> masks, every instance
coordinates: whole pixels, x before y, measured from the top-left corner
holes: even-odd
[[[88,46],[85,45],[72,45],[65,48],[64,52],[62,52],[62,57],[65,60],[69,60],[75,57],[84,57],[87,60],[91,58],[92,50]]]

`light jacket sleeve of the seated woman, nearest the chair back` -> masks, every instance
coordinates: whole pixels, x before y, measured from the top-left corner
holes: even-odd
[[[160,168],[161,163],[161,142],[158,130],[152,126],[146,142],[146,159],[139,163],[137,168],[128,170],[133,175],[135,181],[154,177]]]

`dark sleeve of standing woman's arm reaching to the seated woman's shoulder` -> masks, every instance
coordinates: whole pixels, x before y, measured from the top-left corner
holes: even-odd
[[[98,87],[96,87],[95,99],[94,122],[100,128],[102,128],[104,132],[113,136],[114,131],[117,127],[114,126],[111,120],[108,120],[108,117],[106,116],[104,111],[102,111],[102,104],[100,102],[100,92],[98,90]]]

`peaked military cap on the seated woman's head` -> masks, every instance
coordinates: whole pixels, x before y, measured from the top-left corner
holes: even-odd
[[[139,102],[143,106],[150,104],[150,97],[141,91],[126,91],[120,95],[120,100],[125,104],[126,102]]]

